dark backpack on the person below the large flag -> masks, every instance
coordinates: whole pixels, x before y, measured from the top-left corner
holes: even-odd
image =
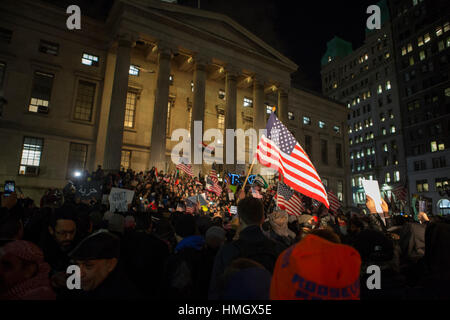
[[[238,239],[232,242],[232,244],[239,250],[239,255],[235,259],[247,258],[254,260],[262,264],[270,273],[273,273],[275,263],[282,251],[275,241],[266,237],[263,241],[258,242],[248,242]]]

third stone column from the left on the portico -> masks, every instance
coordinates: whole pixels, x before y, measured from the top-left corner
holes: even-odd
[[[194,57],[194,98],[192,102],[192,119],[191,119],[191,163],[194,175],[198,176],[202,168],[203,153],[202,142],[205,128],[205,87],[206,87],[206,63],[207,60],[203,56]],[[194,121],[201,121],[200,130],[194,134]],[[197,151],[197,152],[195,152]]]

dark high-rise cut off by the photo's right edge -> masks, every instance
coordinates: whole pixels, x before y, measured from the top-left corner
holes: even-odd
[[[410,197],[450,213],[450,2],[389,3]]]

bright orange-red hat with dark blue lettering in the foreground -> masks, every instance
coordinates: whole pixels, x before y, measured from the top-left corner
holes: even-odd
[[[350,246],[307,235],[278,257],[272,300],[358,300],[361,258]]]

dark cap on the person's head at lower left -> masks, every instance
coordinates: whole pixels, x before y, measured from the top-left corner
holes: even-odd
[[[119,256],[120,239],[104,229],[84,238],[69,253],[69,257],[75,260],[112,259]]]

